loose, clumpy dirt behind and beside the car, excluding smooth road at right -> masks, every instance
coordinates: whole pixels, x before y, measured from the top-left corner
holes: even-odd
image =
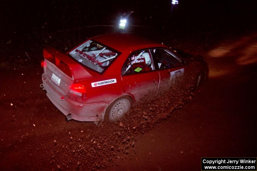
[[[6,86],[2,87],[5,94],[1,102],[3,107],[8,106],[3,117],[9,119],[11,125],[3,124],[1,153],[5,157],[1,164],[11,170],[105,169],[114,163],[112,160],[119,159],[118,155],[134,153],[138,134],[170,117],[172,111],[182,108],[193,96],[190,93],[193,84],[180,83],[183,89],[173,87],[170,93],[141,101],[121,121],[103,122],[97,127],[93,123],[66,122],[49,103],[46,92],[39,89],[39,68],[21,71],[23,69],[15,68],[2,78],[2,85]],[[184,74],[184,79],[188,80],[187,77],[194,80],[191,74]],[[14,83],[13,88],[17,86],[14,90],[9,90],[8,78]],[[10,98],[16,95],[17,98]]]

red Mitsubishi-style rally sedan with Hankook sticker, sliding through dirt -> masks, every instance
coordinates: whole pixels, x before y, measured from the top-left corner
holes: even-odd
[[[162,84],[172,85],[190,65],[183,52],[126,33],[86,40],[66,54],[44,49],[42,81],[47,97],[67,120],[121,119]],[[197,85],[208,75],[204,66]]]

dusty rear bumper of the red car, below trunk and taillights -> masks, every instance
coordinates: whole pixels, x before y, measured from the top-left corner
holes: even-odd
[[[102,119],[106,106],[110,103],[109,101],[78,103],[56,90],[47,79],[45,74],[42,74],[42,81],[47,91],[47,97],[65,116],[71,114],[74,120],[89,122],[98,122]],[[64,97],[64,99],[61,100],[61,97]]]

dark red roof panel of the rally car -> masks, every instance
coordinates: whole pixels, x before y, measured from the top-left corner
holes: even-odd
[[[126,49],[135,48],[137,46],[159,44],[155,41],[148,40],[129,33],[105,34],[93,37],[92,39],[98,41],[99,43],[105,44],[106,46],[109,46],[113,49],[116,49],[120,52],[123,52]]]

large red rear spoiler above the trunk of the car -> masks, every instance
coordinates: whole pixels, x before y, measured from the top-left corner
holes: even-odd
[[[92,75],[86,71],[86,69],[83,68],[83,66],[81,66],[78,62],[76,62],[67,54],[63,54],[62,52],[52,47],[44,48],[43,55],[44,59],[53,63],[58,68],[60,65],[62,65],[59,69],[76,81],[92,77]]]

